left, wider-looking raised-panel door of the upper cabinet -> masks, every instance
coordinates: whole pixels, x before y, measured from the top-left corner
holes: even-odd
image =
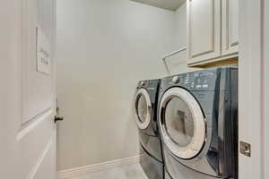
[[[187,0],[188,63],[221,56],[221,1]]]

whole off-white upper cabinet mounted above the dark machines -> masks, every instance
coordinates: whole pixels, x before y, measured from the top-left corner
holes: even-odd
[[[238,0],[187,0],[187,64],[238,55]]]

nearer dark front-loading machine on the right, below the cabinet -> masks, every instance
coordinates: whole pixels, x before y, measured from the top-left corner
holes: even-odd
[[[164,78],[158,124],[166,178],[237,178],[238,69]]]

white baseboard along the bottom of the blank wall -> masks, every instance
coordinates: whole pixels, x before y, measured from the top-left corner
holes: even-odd
[[[87,175],[87,174],[91,174],[92,172],[108,170],[108,169],[115,168],[118,166],[137,164],[139,163],[140,158],[143,158],[143,157],[144,156],[122,158],[122,159],[116,159],[116,160],[112,160],[112,161],[108,161],[108,162],[104,162],[100,164],[94,164],[91,166],[82,166],[82,167],[76,167],[76,168],[59,171],[57,172],[57,179],[69,179],[78,175]]]

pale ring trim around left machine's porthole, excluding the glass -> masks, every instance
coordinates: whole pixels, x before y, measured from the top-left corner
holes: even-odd
[[[147,103],[146,104],[147,105],[147,115],[146,115],[146,119],[143,123],[141,122],[141,120],[139,119],[139,116],[137,114],[138,98],[140,98],[142,95],[146,99],[146,103]],[[135,121],[136,121],[136,124],[138,125],[138,127],[142,130],[146,129],[152,120],[152,101],[151,101],[149,93],[146,90],[141,89],[141,90],[137,91],[137,93],[134,97],[133,111],[134,111],[134,118],[135,118]]]

